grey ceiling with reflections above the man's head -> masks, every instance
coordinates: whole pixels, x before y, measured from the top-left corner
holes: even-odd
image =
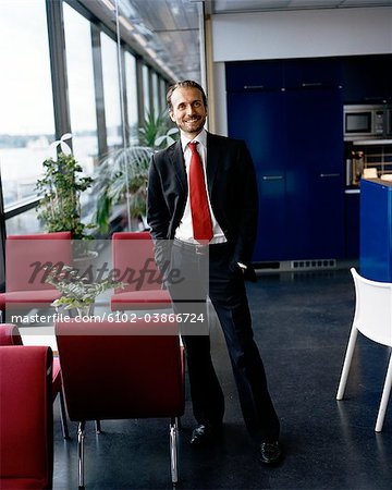
[[[196,81],[200,81],[203,3],[207,14],[392,7],[392,0],[118,0],[118,3],[120,13],[136,27],[151,58],[162,69],[173,78]]]

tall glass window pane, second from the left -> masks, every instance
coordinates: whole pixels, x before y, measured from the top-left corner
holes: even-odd
[[[98,157],[90,23],[64,3],[66,72],[73,154],[86,174]]]

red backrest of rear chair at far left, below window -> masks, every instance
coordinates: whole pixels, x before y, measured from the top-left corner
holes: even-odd
[[[7,291],[52,290],[52,285],[44,282],[44,267],[59,262],[72,262],[71,232],[8,236]]]

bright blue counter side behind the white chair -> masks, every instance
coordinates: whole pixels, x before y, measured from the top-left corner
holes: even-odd
[[[360,274],[392,282],[392,183],[360,181]]]

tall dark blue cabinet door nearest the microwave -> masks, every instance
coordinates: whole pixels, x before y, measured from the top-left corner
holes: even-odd
[[[344,166],[339,89],[286,90],[287,255],[344,257]]]

